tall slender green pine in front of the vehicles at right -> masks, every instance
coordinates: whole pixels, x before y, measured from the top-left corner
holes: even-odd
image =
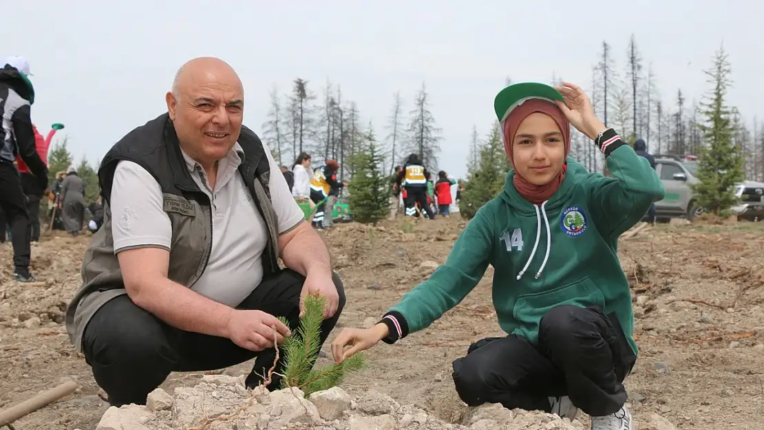
[[[700,183],[692,188],[704,212],[724,216],[736,204],[735,186],[744,179],[743,157],[733,141],[731,110],[725,104],[731,86],[731,68],[724,47],[717,51],[711,70],[705,73],[710,76],[713,89],[709,101],[701,105],[706,121],[698,127],[706,146],[701,148],[698,165]]]

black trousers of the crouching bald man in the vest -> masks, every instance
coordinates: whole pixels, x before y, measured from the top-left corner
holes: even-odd
[[[336,274],[333,280],[339,307],[321,326],[321,344],[345,306],[342,281]],[[294,333],[299,325],[299,293],[304,282],[299,273],[282,270],[262,280],[237,308],[283,316]],[[262,382],[256,373],[267,374],[276,358],[274,348],[257,353],[228,338],[174,328],[136,306],[127,295],[112,299],[93,315],[83,335],[83,348],[95,382],[108,394],[113,406],[144,405],[148,393],[160,386],[170,372],[222,369],[257,357],[246,380],[248,387],[255,387]],[[283,372],[283,358],[280,354],[277,373]],[[268,389],[278,390],[280,385],[281,378],[274,373]]]

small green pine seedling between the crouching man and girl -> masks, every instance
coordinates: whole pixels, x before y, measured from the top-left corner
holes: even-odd
[[[281,388],[297,387],[306,396],[316,391],[329,390],[337,385],[349,372],[361,369],[365,364],[364,354],[354,354],[341,364],[332,364],[320,370],[313,369],[321,349],[321,323],[326,299],[321,296],[305,298],[305,315],[300,318],[299,328],[285,338],[280,345],[284,355],[284,370]],[[279,317],[285,325],[286,318]]]

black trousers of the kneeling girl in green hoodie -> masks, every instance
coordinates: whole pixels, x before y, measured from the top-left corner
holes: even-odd
[[[578,409],[604,416],[626,403],[623,380],[635,361],[615,315],[564,305],[542,318],[538,345],[519,335],[475,342],[454,361],[453,378],[469,406],[550,412],[549,397],[568,396]]]

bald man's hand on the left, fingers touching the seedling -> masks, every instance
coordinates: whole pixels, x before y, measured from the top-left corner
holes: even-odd
[[[292,335],[289,327],[274,315],[263,311],[233,309],[226,327],[227,337],[241,348],[251,351],[263,351],[274,348],[274,328],[276,343]]]

